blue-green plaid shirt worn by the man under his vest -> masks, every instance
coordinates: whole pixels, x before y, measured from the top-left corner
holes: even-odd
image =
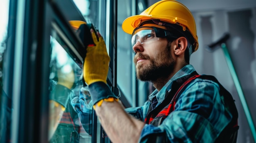
[[[164,101],[166,92],[171,91],[173,81],[193,71],[195,69],[192,65],[184,66],[159,92],[155,90],[149,95],[148,101],[143,106],[127,108],[126,112],[144,121],[150,104],[156,103],[155,107],[157,107]],[[232,118],[232,115],[225,111],[219,89],[219,85],[210,80],[191,81],[177,99],[175,110],[161,125],[155,127],[145,124],[139,142],[157,142],[157,138],[162,138],[171,143],[213,143]]]

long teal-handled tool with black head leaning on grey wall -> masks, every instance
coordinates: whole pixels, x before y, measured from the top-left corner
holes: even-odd
[[[253,136],[254,141],[256,143],[256,131],[255,131],[254,122],[252,121],[252,117],[251,117],[249,108],[247,106],[246,100],[245,100],[245,95],[243,94],[243,90],[241,88],[240,82],[239,82],[238,77],[236,75],[236,70],[235,70],[235,68],[233,66],[232,60],[231,60],[230,55],[229,55],[229,51],[228,51],[227,46],[226,46],[226,42],[229,39],[229,37],[230,37],[229,33],[225,33],[225,35],[223,37],[221,37],[220,40],[218,40],[217,42],[214,42],[214,43],[208,45],[208,50],[209,51],[214,51],[218,47],[222,48],[222,50],[224,52],[224,55],[225,55],[225,58],[226,58],[226,61],[227,61],[227,65],[228,65],[230,73],[231,73],[231,76],[232,76],[232,78],[234,80],[234,84],[236,86],[236,90],[238,92],[238,96],[240,97],[242,106],[243,106],[243,108],[245,110],[245,115],[247,117],[247,120],[248,120],[248,123],[249,123],[249,127],[250,127],[250,129],[252,131],[252,136]]]

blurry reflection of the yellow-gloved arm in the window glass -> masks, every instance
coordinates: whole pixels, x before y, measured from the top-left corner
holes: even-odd
[[[49,139],[56,131],[63,113],[68,107],[68,96],[72,92],[74,86],[74,71],[69,62],[67,62],[67,57],[62,60],[58,59],[56,56],[57,46],[53,46],[52,49],[52,60],[51,60],[51,74],[50,74],[50,96],[49,96]],[[60,53],[60,52],[59,52]],[[65,55],[66,53],[62,54]],[[61,55],[61,54],[60,54]],[[61,63],[65,61],[64,63]]]

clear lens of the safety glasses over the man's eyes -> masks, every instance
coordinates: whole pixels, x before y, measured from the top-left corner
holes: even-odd
[[[141,27],[132,33],[132,46],[134,46],[137,41],[144,44],[145,42],[153,40],[159,40],[159,38],[156,37],[155,30],[151,27]]]

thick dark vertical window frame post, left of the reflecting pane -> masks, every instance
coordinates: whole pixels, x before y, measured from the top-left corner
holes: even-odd
[[[47,142],[47,128],[43,128],[48,114],[49,36],[46,27],[46,0],[11,0],[9,31],[13,61],[11,92],[13,112],[11,141],[16,143]],[[12,18],[14,20],[12,20]],[[13,23],[15,21],[15,23]],[[45,58],[43,61],[43,57]],[[47,66],[46,66],[47,65]],[[31,107],[32,106],[32,107]]]

